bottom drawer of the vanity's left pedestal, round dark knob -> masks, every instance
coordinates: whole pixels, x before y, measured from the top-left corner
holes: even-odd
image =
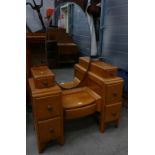
[[[61,119],[59,117],[38,122],[39,140],[44,143],[61,135]]]

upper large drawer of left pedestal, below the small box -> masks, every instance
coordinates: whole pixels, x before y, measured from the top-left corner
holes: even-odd
[[[37,120],[58,116],[62,110],[60,95],[35,98],[34,107]]]

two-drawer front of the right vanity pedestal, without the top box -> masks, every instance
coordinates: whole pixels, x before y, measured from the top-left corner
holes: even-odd
[[[105,123],[114,122],[118,126],[122,106],[122,84],[123,80],[117,77],[104,81]]]

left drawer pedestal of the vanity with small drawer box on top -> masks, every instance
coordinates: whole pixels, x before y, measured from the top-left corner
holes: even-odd
[[[29,86],[32,96],[33,119],[38,149],[41,153],[49,141],[57,139],[60,144],[63,144],[64,141],[61,89],[54,83],[53,74],[47,67],[32,68],[31,72],[33,78],[29,79]],[[42,78],[41,75],[39,76],[39,72]],[[44,83],[46,84],[44,85]]]

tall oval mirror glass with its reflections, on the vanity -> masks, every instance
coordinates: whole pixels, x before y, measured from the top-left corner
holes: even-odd
[[[56,75],[56,81],[62,82],[61,86],[64,86],[64,82],[68,79],[71,82],[65,83],[67,86],[64,87],[77,86],[80,81],[84,80],[89,66],[87,64],[83,76],[80,81],[77,81],[74,77],[76,73],[73,71],[73,65],[78,62],[79,56],[90,56],[91,33],[87,15],[75,3],[63,3],[55,9],[48,23],[47,56],[49,67],[59,67],[52,71]],[[57,47],[54,47],[55,43],[57,43]],[[71,64],[71,67],[61,68],[68,63]],[[67,75],[66,72],[69,72],[70,75]]]

